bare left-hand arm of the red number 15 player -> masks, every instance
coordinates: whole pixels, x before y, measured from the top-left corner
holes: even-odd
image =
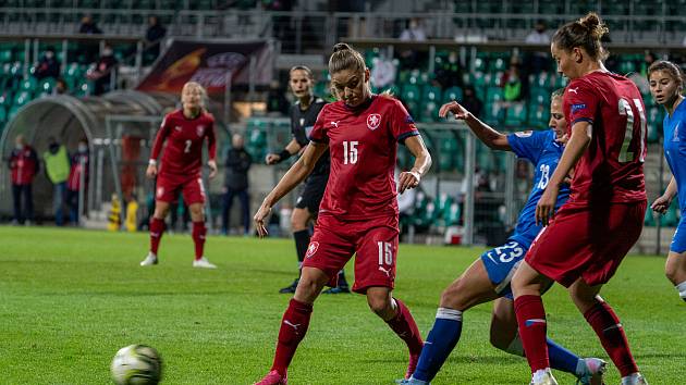
[[[303,156],[293,163],[291,169],[283,175],[277,187],[274,187],[269,195],[262,201],[262,204],[255,213],[253,220],[255,221],[255,227],[257,234],[260,237],[267,235],[267,227],[265,226],[265,219],[271,212],[271,208],[286,194],[291,192],[297,185],[299,185],[307,175],[313,172],[315,164],[319,158],[327,151],[329,145],[318,144],[313,141],[306,147]]]

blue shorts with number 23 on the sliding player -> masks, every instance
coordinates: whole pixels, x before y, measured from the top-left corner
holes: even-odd
[[[510,281],[528,249],[516,240],[509,240],[505,245],[481,254],[488,277],[495,285],[495,293],[501,297],[513,299]]]

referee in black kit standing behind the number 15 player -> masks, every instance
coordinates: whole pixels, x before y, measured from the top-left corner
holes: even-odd
[[[286,145],[286,147],[280,153],[270,153],[267,156],[267,164],[277,164],[283,162],[290,157],[301,153],[301,151],[309,144],[309,133],[317,121],[319,111],[327,103],[323,99],[315,97],[313,88],[315,86],[315,78],[313,72],[304,66],[296,65],[289,72],[289,85],[293,95],[297,98],[297,102],[291,105],[291,133],[293,139]],[[315,164],[315,169],[311,174],[305,179],[305,187],[303,192],[297,198],[295,209],[291,215],[291,229],[293,231],[293,238],[295,239],[295,250],[297,251],[298,269],[303,266],[303,260],[309,246],[309,224],[310,221],[317,219],[319,212],[319,202],[323,197],[324,189],[327,188],[327,182],[329,181],[330,169],[329,150],[324,152],[321,158]],[[299,278],[295,278],[293,283],[282,289],[279,293],[295,293],[297,282]],[[324,294],[341,294],[351,293],[347,282],[345,281],[345,274],[343,270],[339,273],[339,286],[331,287],[323,291]]]

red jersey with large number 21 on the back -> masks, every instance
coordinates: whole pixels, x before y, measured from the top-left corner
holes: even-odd
[[[574,170],[569,203],[646,200],[646,109],[636,85],[591,72],[569,83],[563,109],[569,128],[579,121],[592,125],[592,139]]]

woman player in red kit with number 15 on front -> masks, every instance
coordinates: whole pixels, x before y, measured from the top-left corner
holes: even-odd
[[[338,272],[354,253],[353,291],[365,294],[369,308],[407,344],[407,376],[421,352],[421,336],[409,310],[391,294],[399,236],[393,171],[397,142],[404,142],[416,157],[414,167],[400,175],[401,194],[419,184],[431,158],[401,102],[371,94],[369,70],[359,52],[345,44],[335,45],[329,73],[339,101],[323,107],[310,134],[311,144],[255,214],[257,231],[265,236],[265,219],[271,208],[305,179],[327,149],[330,151],[331,173],[315,234],[295,295],[283,314],[271,371],[260,385],[286,383],[286,371],[307,332],[313,303],[324,285],[335,285]]]

